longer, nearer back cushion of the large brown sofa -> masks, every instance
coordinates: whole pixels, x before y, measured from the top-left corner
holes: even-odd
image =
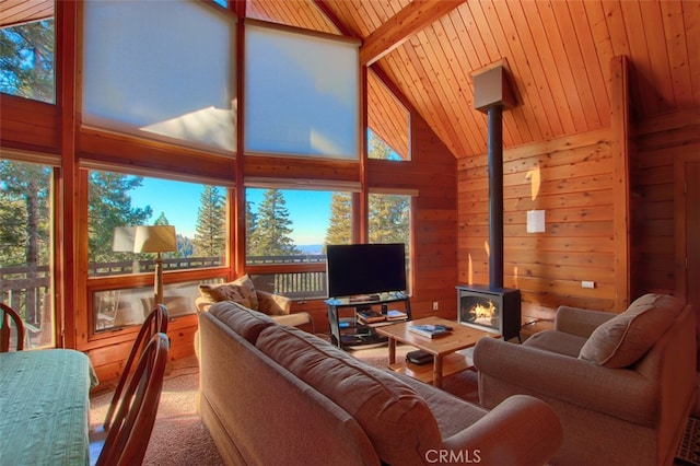
[[[387,464],[422,464],[441,445],[438,422],[413,388],[296,328],[268,327],[256,346],[350,413]]]

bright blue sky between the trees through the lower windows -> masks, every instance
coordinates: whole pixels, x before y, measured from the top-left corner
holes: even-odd
[[[167,221],[175,225],[177,233],[194,237],[202,190],[203,186],[198,184],[143,178],[142,186],[129,194],[132,207],[151,206],[153,209],[151,222],[164,212]],[[254,202],[253,210],[257,211],[265,189],[248,190],[248,193],[252,194],[248,200]],[[330,197],[331,194],[327,191],[284,191],[287,209],[294,229],[291,236],[298,246],[324,242],[330,215]]]

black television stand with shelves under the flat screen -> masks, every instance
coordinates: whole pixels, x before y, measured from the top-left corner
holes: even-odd
[[[375,328],[411,319],[409,298],[401,292],[362,296],[365,300],[357,298],[331,298],[325,301],[330,324],[330,340],[340,349],[360,349],[386,345],[387,337],[378,335]],[[392,304],[397,304],[397,306],[394,307]],[[362,322],[362,318],[358,317],[358,312],[375,312],[386,315],[389,310],[400,311],[406,316],[400,317],[398,321],[383,319],[371,323]]]

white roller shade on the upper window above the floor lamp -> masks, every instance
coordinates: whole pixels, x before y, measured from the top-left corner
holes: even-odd
[[[198,2],[86,1],[83,124],[233,152],[234,26]]]

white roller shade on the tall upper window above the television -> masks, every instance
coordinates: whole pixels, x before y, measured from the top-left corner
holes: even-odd
[[[246,22],[246,153],[359,160],[359,45]]]

